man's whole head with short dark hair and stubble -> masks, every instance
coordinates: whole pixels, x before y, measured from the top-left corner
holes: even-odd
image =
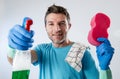
[[[45,14],[45,28],[54,44],[66,41],[67,32],[71,27],[70,16],[62,6],[52,5]]]

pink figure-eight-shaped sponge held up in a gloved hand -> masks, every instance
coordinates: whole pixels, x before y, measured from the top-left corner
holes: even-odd
[[[91,19],[91,30],[88,34],[88,42],[94,46],[98,46],[100,42],[97,41],[97,38],[104,37],[108,38],[107,29],[110,26],[110,19],[107,15],[103,13],[97,13]]]

